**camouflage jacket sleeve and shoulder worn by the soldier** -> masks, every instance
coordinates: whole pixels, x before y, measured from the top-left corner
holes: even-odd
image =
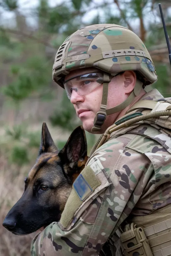
[[[142,99],[160,98],[154,89]],[[128,216],[171,203],[171,138],[157,127],[142,123],[113,132],[95,150],[74,182],[60,222],[33,239],[32,256],[126,255],[119,226]]]

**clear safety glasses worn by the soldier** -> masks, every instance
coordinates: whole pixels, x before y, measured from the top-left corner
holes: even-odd
[[[103,83],[102,73],[88,73],[79,76],[72,77],[64,82],[64,88],[67,96],[71,99],[72,91],[76,91],[77,94],[83,96],[90,91],[94,90],[97,86]]]

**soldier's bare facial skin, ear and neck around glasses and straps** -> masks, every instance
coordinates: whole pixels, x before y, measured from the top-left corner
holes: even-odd
[[[75,76],[87,74],[90,72],[99,72],[99,69],[83,68],[79,70],[73,70],[68,75],[66,75],[65,81]],[[103,74],[103,71],[100,70],[100,72]],[[122,75],[118,75],[112,78],[108,88],[107,108],[117,106],[127,98],[127,95],[124,94],[123,87],[124,79]],[[82,96],[78,94],[77,90],[72,90],[70,101],[74,105],[76,114],[82,121],[84,129],[88,132],[91,132],[95,115],[100,109],[102,91],[102,84],[99,84],[89,93]],[[106,117],[106,120],[102,126],[101,133],[103,133],[107,129],[107,127],[111,126],[114,123],[118,115],[119,113],[116,113]]]

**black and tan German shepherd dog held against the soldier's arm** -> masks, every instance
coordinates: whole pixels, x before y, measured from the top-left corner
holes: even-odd
[[[82,126],[70,135],[60,151],[46,123],[42,126],[39,156],[25,178],[25,190],[4,219],[3,226],[25,235],[58,222],[72,184],[87,162],[87,142]]]

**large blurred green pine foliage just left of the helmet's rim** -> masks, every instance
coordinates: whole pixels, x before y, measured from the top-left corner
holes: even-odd
[[[2,93],[15,102],[22,101],[50,82],[51,78],[47,76],[48,69],[47,59],[40,56],[28,58],[23,66],[11,65],[11,76],[14,80],[2,87]]]

